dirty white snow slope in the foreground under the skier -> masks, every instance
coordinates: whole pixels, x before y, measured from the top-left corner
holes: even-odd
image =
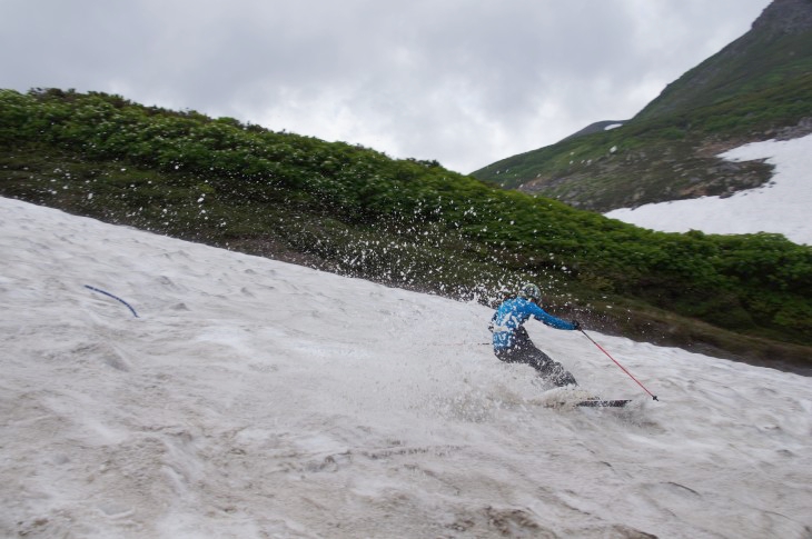
[[[0,536],[812,537],[809,378],[536,322],[636,399],[549,408],[478,305],[9,199],[0,253]]]

